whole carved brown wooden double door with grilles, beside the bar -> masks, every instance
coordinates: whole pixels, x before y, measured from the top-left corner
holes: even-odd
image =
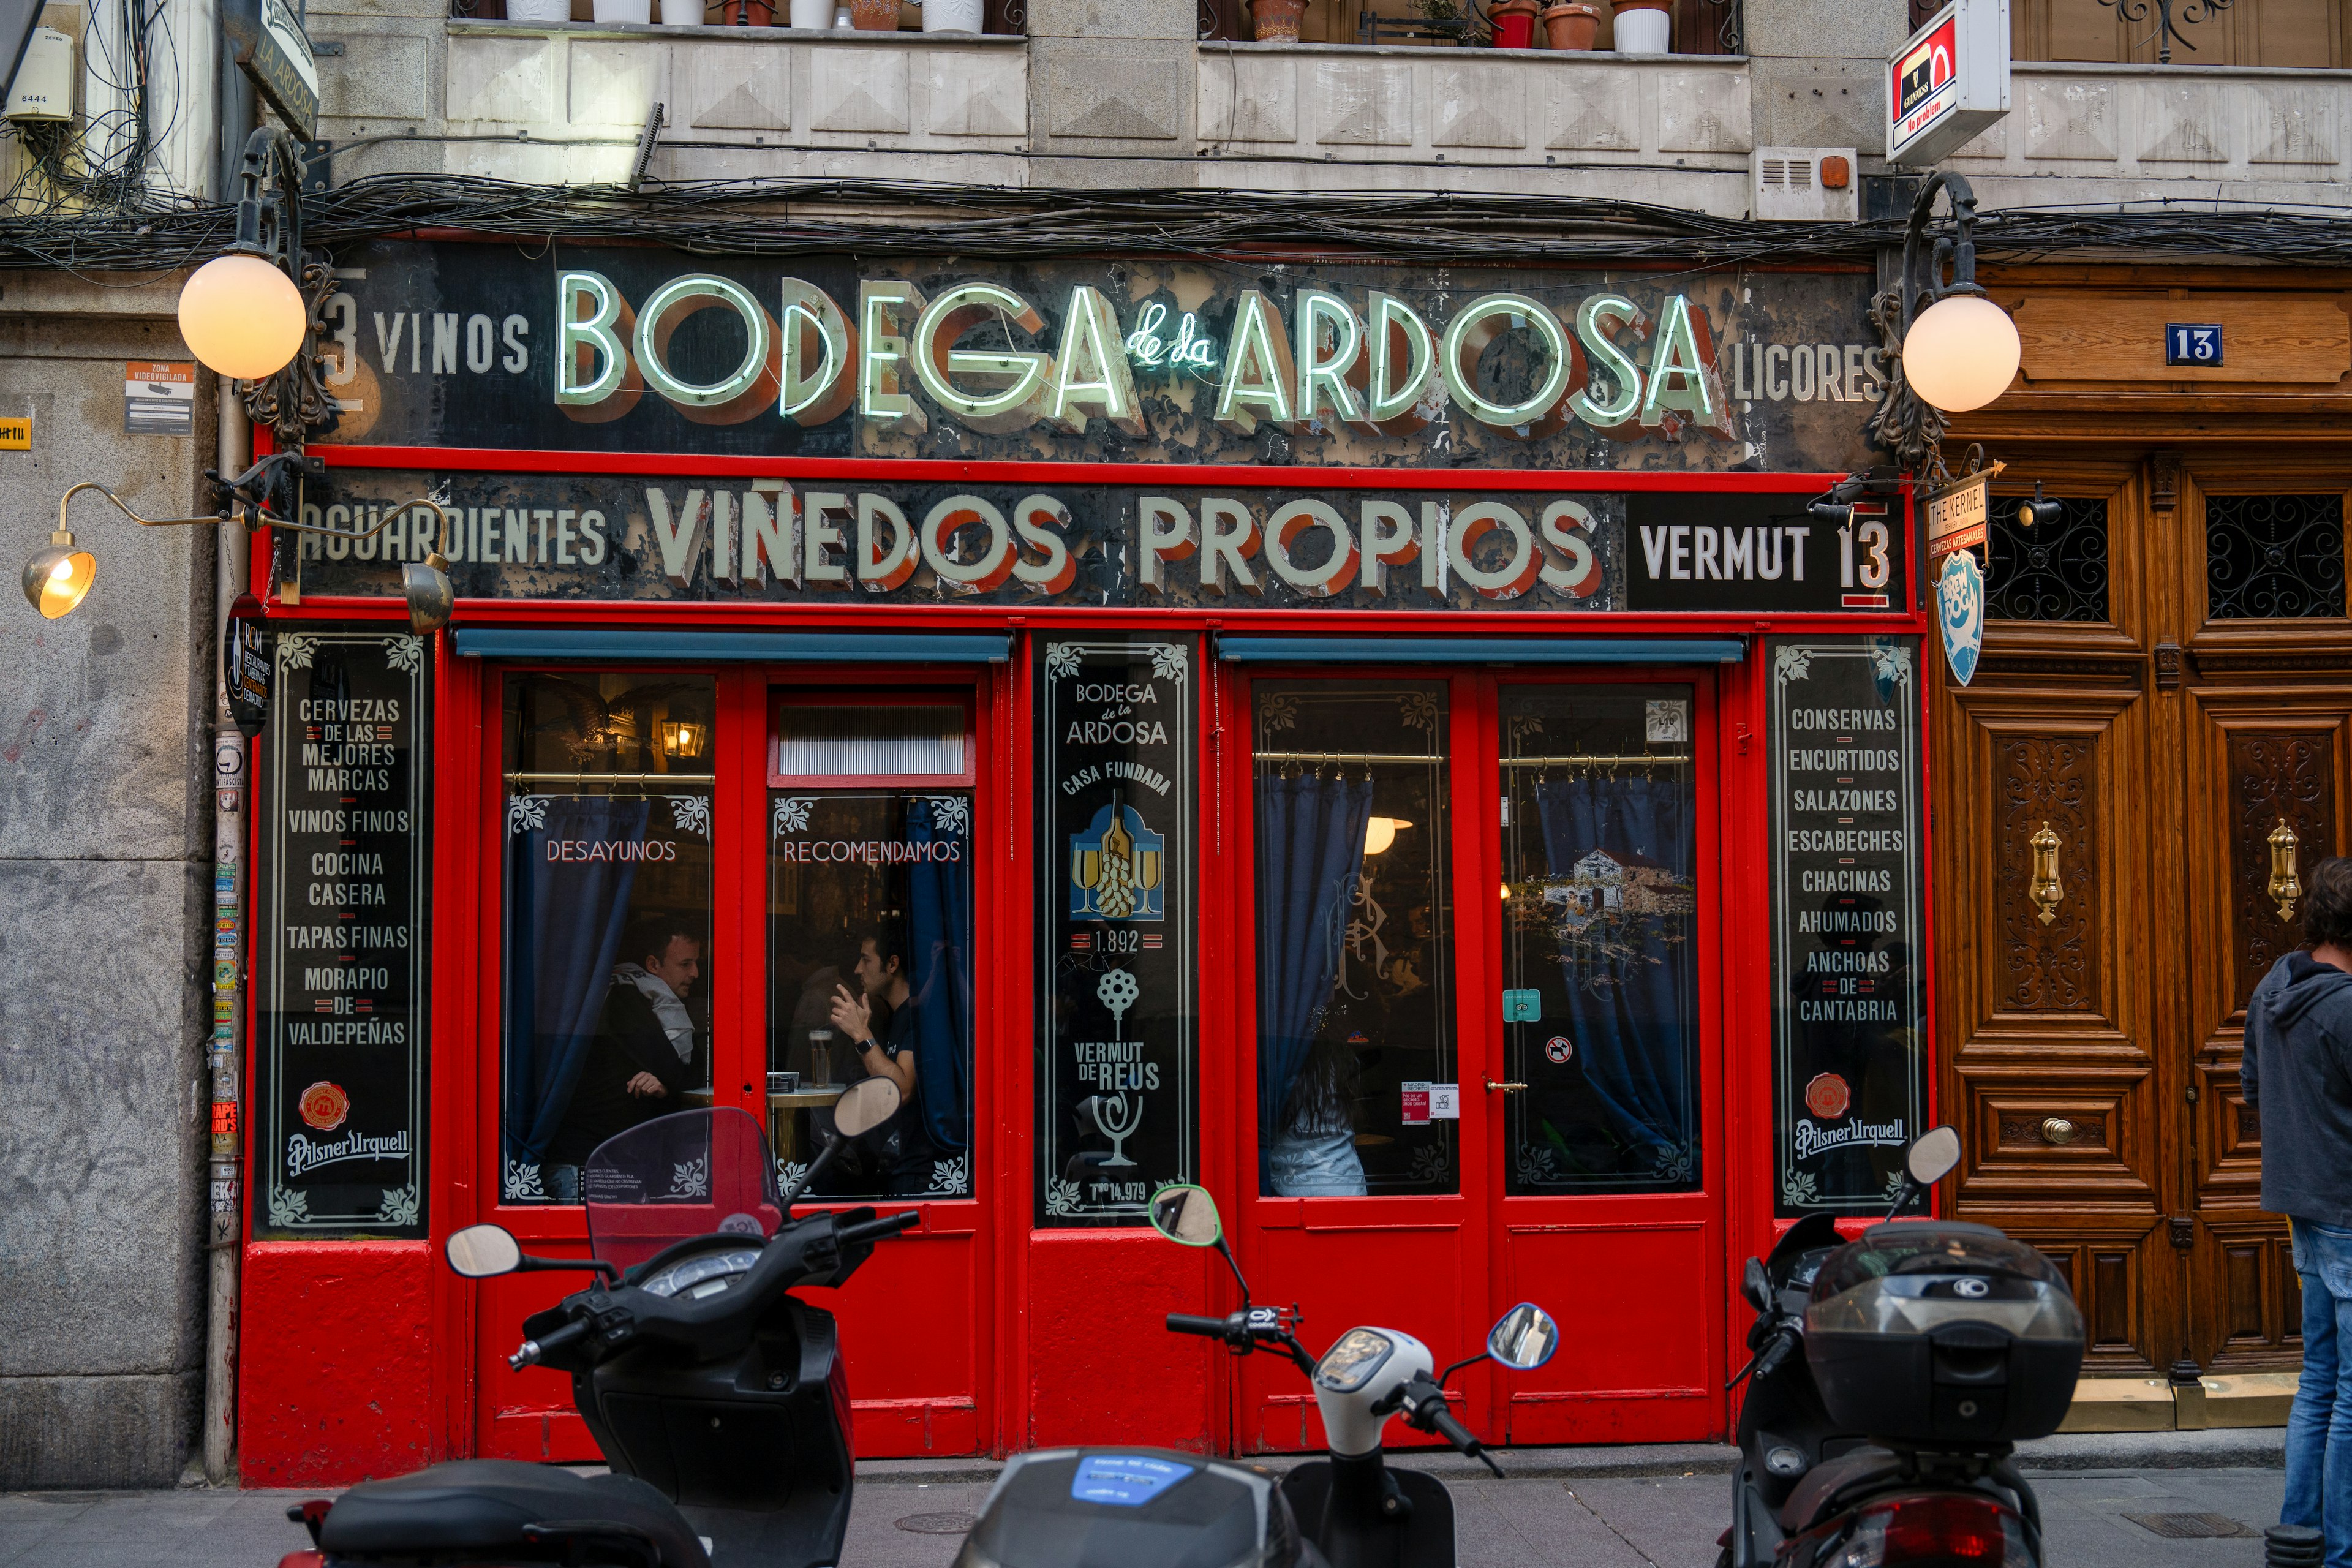
[[[2345,468],[2004,456],[2063,505],[2020,527],[1994,491],[1985,658],[1971,686],[1938,670],[1957,1213],[2070,1274],[2086,1378],[2291,1368],[2300,1298],[2239,1056],[2246,999],[2300,943],[2277,872],[2345,851]]]

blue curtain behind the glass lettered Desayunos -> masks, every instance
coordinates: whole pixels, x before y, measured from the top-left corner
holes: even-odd
[[[572,1107],[612,987],[635,860],[550,860],[548,844],[642,844],[647,799],[539,797],[506,835],[506,1157],[536,1166]]]

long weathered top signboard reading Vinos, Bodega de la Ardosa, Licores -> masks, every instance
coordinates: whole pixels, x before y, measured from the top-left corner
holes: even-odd
[[[322,440],[383,447],[1818,473],[1886,376],[1867,270],[341,261]]]

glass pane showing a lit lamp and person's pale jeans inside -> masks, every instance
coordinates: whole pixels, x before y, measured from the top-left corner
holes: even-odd
[[[1258,1190],[1456,1192],[1444,682],[1256,689]]]

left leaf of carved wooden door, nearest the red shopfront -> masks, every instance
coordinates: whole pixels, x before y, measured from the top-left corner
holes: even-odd
[[[1957,1215],[2072,1279],[2086,1368],[2161,1366],[2178,1267],[2164,1232],[2157,1011],[2136,931],[2154,900],[2147,698],[2107,672],[2011,677],[1943,705],[1938,973]],[[2046,835],[2046,837],[2044,837]],[[2034,898],[2034,839],[2058,889]]]

